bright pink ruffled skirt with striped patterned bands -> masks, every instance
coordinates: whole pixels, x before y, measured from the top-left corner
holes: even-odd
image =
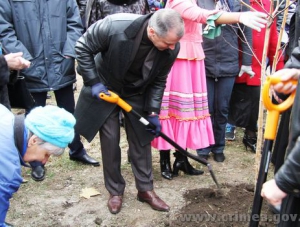
[[[184,149],[214,144],[203,60],[175,61],[168,75],[159,118],[162,132]],[[152,146],[158,150],[173,148],[161,137],[155,138]]]

